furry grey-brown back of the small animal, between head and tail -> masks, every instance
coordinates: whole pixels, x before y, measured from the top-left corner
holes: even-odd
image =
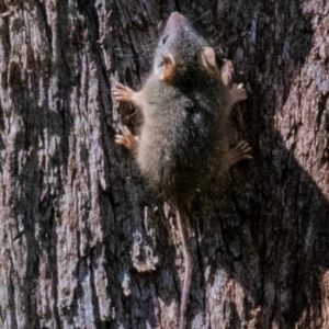
[[[214,151],[209,140],[218,139],[223,115],[197,92],[186,94],[151,79],[148,83],[137,161],[152,185],[188,197],[214,171],[219,146]]]

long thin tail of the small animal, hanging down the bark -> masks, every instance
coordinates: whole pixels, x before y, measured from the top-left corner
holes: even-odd
[[[179,329],[185,329],[186,327],[186,308],[191,286],[191,277],[193,271],[193,258],[194,243],[190,238],[191,225],[186,215],[186,211],[183,207],[177,209],[177,222],[179,231],[182,239],[183,258],[184,258],[184,281],[181,293],[181,307],[180,307],[180,322]]]

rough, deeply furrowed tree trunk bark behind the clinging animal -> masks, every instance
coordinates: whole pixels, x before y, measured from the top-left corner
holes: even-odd
[[[193,203],[188,328],[329,328],[328,1],[0,0],[1,328],[177,328],[174,209],[110,92],[140,88],[172,11],[232,60],[253,148]]]

